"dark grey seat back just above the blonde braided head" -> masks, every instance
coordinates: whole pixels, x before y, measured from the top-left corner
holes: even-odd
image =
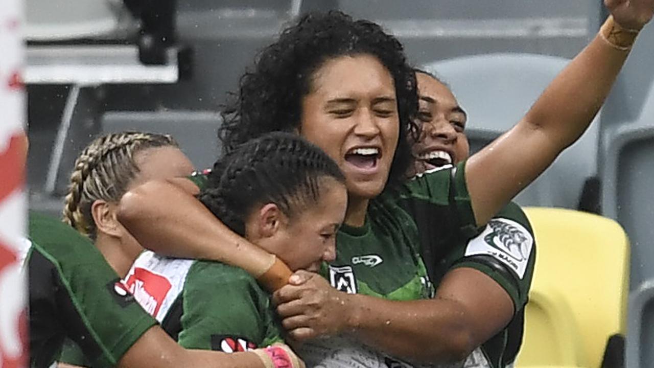
[[[213,167],[220,154],[220,115],[211,111],[112,111],[101,121],[103,133],[137,130],[170,134],[193,164],[202,170]]]

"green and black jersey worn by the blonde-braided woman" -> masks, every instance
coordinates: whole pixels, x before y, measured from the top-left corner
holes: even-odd
[[[29,355],[48,367],[75,341],[95,367],[112,367],[156,325],[102,254],[58,219],[29,213]]]

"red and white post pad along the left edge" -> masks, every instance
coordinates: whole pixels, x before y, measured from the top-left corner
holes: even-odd
[[[27,367],[24,0],[0,7],[0,368]]]

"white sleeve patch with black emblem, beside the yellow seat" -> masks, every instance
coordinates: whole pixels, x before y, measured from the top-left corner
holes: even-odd
[[[501,217],[491,219],[486,229],[468,242],[466,256],[491,255],[525,277],[534,237],[523,225]]]

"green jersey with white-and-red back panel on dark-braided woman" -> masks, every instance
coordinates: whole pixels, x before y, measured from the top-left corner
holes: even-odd
[[[125,283],[185,348],[241,352],[283,342],[269,295],[241,268],[146,251]]]

